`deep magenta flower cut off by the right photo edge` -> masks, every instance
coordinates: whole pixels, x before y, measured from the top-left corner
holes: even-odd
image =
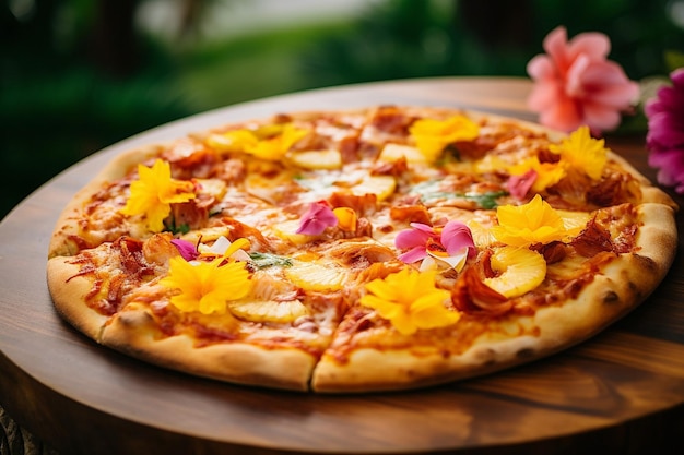
[[[658,182],[684,194],[684,68],[670,74],[672,85],[658,89],[644,110],[648,117],[648,164],[659,168]]]

